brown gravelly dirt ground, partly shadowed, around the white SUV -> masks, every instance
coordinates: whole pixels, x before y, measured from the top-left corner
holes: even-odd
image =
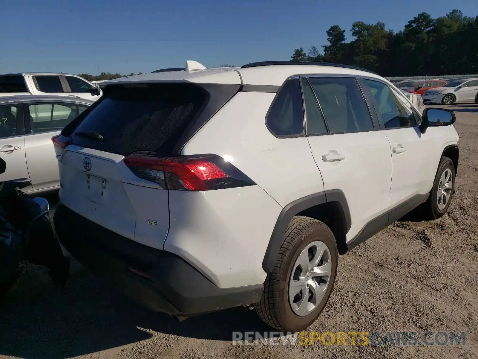
[[[466,331],[465,345],[233,346],[233,331],[268,330],[248,308],[180,323],[74,263],[64,291],[39,268],[12,289],[0,309],[0,358],[478,358],[478,105],[450,107],[460,164],[449,212],[397,222],[341,256],[335,290],[311,330]]]

